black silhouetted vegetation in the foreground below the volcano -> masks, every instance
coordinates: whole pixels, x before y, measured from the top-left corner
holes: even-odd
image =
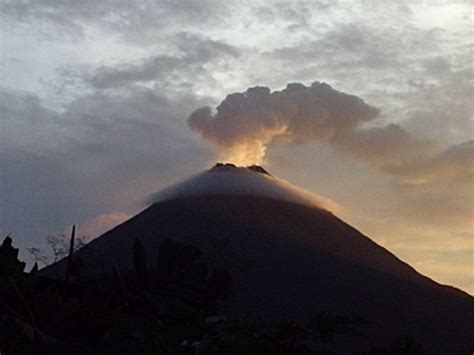
[[[137,240],[134,270],[73,282],[23,272],[11,240],[0,249],[0,353],[10,354],[350,354],[373,327],[357,314],[320,312],[307,322],[230,320],[226,270],[171,240],[148,263]],[[149,266],[149,265],[154,266]],[[409,334],[360,354],[423,354]]]

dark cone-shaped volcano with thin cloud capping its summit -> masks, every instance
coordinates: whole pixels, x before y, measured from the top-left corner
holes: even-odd
[[[150,263],[160,243],[172,239],[228,270],[232,294],[222,312],[229,318],[357,314],[367,320],[358,344],[410,335],[430,354],[472,353],[474,298],[421,275],[331,206],[261,167],[217,164],[157,193],[150,207],[74,257],[85,275],[132,269],[135,238]],[[65,265],[42,273],[62,276]]]

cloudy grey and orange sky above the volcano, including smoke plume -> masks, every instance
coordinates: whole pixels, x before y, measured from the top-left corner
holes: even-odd
[[[237,160],[474,294],[471,1],[0,0],[0,17],[0,236],[24,260]]]

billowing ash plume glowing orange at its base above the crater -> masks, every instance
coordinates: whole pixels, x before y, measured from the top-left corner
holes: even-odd
[[[220,159],[261,164],[268,145],[333,139],[377,117],[379,110],[326,83],[288,84],[282,91],[253,87],[228,95],[216,112],[203,107],[188,118],[193,131],[218,147]]]

